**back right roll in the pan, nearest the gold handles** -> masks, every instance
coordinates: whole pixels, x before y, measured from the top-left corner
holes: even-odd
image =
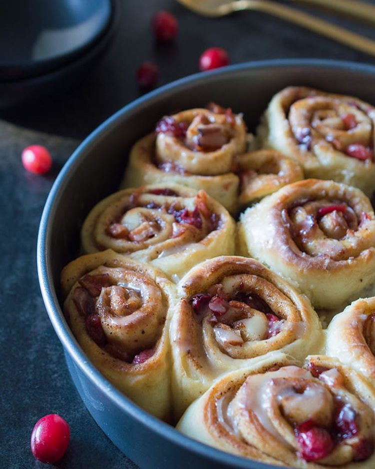
[[[269,103],[259,135],[263,145],[299,161],[306,177],[333,179],[370,195],[375,177],[374,132],[371,105],[351,96],[287,87]],[[353,144],[367,149],[372,158],[361,161],[348,156]]]

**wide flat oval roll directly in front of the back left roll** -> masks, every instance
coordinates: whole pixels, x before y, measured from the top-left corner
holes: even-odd
[[[204,191],[152,185],[99,202],[81,230],[84,252],[103,249],[149,262],[173,279],[203,259],[233,254],[234,221]]]

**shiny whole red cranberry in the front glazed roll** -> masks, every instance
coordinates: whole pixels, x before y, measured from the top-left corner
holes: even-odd
[[[314,425],[311,420],[301,423],[294,431],[300,454],[306,461],[321,459],[333,449],[333,440],[329,432]]]

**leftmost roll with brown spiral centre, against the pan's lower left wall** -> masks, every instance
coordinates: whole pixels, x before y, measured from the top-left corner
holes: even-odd
[[[135,403],[168,419],[172,282],[149,265],[106,250],[70,262],[61,286],[64,314],[88,358]]]

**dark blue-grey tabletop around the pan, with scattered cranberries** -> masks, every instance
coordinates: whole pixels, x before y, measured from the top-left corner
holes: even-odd
[[[375,63],[375,58],[260,13],[213,20],[200,18],[172,0],[117,0],[115,6],[113,39],[78,85],[0,111],[0,467],[4,468],[48,466],[33,459],[29,438],[36,420],[53,412],[64,417],[71,430],[69,448],[57,467],[136,467],[102,433],[70,381],[41,300],[35,245],[54,177],[80,140],[140,95],[134,79],[137,66],[145,60],[157,63],[158,85],[162,85],[197,72],[201,52],[212,46],[225,48],[231,63],[302,57]],[[153,40],[150,19],[160,9],[179,21],[173,44]],[[334,20],[324,13],[319,16]],[[375,39],[368,25],[335,21]],[[51,152],[54,164],[48,176],[24,171],[20,154],[31,144],[45,145]]]

